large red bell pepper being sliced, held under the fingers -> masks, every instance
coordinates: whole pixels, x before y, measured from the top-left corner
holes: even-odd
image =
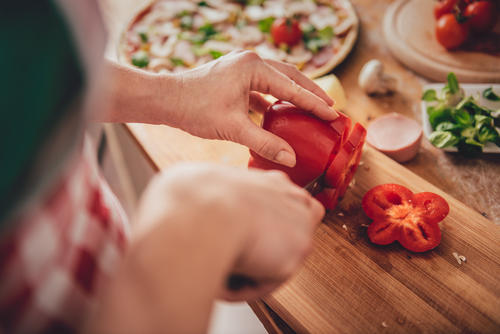
[[[293,168],[285,167],[250,151],[248,166],[281,170],[301,187],[325,174],[323,189],[316,198],[326,209],[335,208],[356,171],[366,136],[359,124],[350,131],[351,119],[339,115],[334,121],[324,121],[291,103],[276,102],[264,114],[262,127],[292,146],[297,163]]]

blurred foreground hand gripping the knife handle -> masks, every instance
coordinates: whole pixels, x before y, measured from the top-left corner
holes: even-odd
[[[250,300],[269,293],[299,268],[323,215],[321,204],[281,172],[181,164],[157,176],[146,190],[136,237],[153,233],[161,240],[162,225],[177,224],[184,226],[183,233],[192,231],[189,238],[198,247],[207,244],[200,238],[234,243],[224,277],[244,275],[257,286],[218,295]],[[210,249],[203,252],[207,262],[217,261],[210,258],[216,256]],[[162,256],[158,259],[163,262]]]

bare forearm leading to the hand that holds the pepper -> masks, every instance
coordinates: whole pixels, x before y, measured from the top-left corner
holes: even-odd
[[[100,88],[92,94],[92,121],[113,123],[177,123],[182,77],[152,74],[105,60]],[[104,107],[103,107],[103,103]],[[99,105],[99,108],[94,108]]]

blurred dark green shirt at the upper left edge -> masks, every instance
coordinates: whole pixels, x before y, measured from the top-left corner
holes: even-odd
[[[49,0],[0,4],[0,226],[48,134],[84,77],[69,29]],[[28,190],[29,191],[29,190]]]

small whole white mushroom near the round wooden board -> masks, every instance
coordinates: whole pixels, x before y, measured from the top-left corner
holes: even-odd
[[[358,84],[367,94],[388,94],[396,88],[396,80],[384,73],[384,64],[378,59],[372,59],[363,66]]]

